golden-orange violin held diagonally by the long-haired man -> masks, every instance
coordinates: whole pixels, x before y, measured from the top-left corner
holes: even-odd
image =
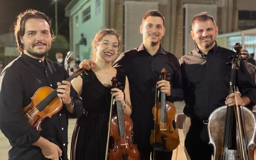
[[[71,82],[74,78],[85,72],[87,67],[87,64],[83,64],[82,68],[77,70],[76,73],[71,75],[66,81]],[[62,109],[62,100],[57,94],[57,88],[53,90],[51,87],[41,87],[34,93],[33,97],[31,97],[31,103],[21,108],[22,116],[37,132],[42,131],[41,124],[46,117],[51,118],[52,115]]]

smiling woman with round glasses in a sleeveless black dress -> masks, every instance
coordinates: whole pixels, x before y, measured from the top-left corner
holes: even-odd
[[[105,159],[111,93],[121,102],[123,114],[131,115],[129,83],[124,72],[112,68],[121,37],[113,29],[100,30],[92,41],[94,68],[71,83],[83,99],[84,114],[77,119],[72,136],[71,160]],[[121,82],[124,92],[111,86],[112,77]]]

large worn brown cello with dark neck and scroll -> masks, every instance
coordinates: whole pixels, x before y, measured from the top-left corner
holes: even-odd
[[[241,48],[239,43],[234,46],[229,94],[236,93],[236,69],[240,67]],[[236,96],[234,102],[236,105],[217,108],[209,116],[209,143],[214,147],[214,160],[253,160],[256,116],[248,108],[238,106]]]

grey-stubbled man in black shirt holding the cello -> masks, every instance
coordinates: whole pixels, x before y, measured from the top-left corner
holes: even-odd
[[[208,118],[216,108],[234,105],[235,93],[229,94],[231,66],[227,64],[234,52],[218,46],[217,35],[218,27],[209,13],[195,15],[191,31],[195,50],[179,60],[186,102],[184,113],[191,120],[185,139],[191,160],[211,160],[213,147],[209,144]],[[236,94],[237,105],[255,105],[256,85],[243,61],[236,72],[236,84],[242,94]]]

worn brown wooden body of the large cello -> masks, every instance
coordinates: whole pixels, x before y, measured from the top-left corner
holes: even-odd
[[[228,106],[222,106],[215,109],[209,117],[208,133],[210,138],[210,144],[214,148],[214,160],[242,160],[241,149],[239,144],[238,129],[236,125],[236,150],[223,148],[223,137],[225,130],[226,112]],[[253,151],[255,148],[255,134],[256,134],[256,116],[251,110],[246,107],[240,106],[241,122],[244,133],[244,145],[248,150],[248,157],[246,159],[253,160]],[[222,155],[224,149],[224,155]],[[222,158],[221,158],[222,156]]]

